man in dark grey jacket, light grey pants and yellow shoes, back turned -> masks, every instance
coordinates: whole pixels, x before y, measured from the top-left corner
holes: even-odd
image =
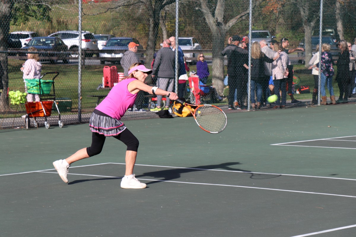
[[[175,76],[175,59],[171,47],[171,41],[165,39],[162,44],[162,48],[158,50],[156,54],[155,62],[153,63],[152,74],[157,76],[157,86],[162,90],[173,91],[174,88],[174,76]],[[184,69],[185,70],[185,69]],[[157,106],[150,111],[161,111],[162,95],[157,95]],[[163,109],[169,109],[169,103],[171,100],[167,97],[166,106]]]

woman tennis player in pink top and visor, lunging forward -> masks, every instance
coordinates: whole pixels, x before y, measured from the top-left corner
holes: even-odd
[[[164,91],[158,87],[145,84],[146,77],[152,70],[147,69],[141,63],[134,63],[129,68],[129,76],[112,87],[108,96],[94,109],[91,114],[89,126],[92,131],[91,146],[80,149],[65,160],[53,162],[59,176],[68,183],[67,173],[71,163],[91,156],[98,155],[103,149],[105,138],[112,136],[127,146],[126,171],[121,180],[121,188],[146,188],[133,174],[133,166],[136,162],[138,140],[120,121],[127,109],[135,103],[137,93],[146,91],[152,95],[167,96],[173,100],[178,99],[174,92]]]

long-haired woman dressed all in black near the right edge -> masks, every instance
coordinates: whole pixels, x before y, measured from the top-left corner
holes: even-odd
[[[337,45],[340,52],[338,54],[338,59],[336,61],[337,72],[336,72],[336,81],[339,86],[340,96],[337,99],[336,103],[347,103],[348,92],[347,89],[350,85],[350,53],[347,49],[347,43],[345,40],[341,40]]]

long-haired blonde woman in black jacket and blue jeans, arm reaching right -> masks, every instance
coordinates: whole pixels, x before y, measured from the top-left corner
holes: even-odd
[[[268,58],[262,51],[260,43],[253,42],[251,45],[251,103],[252,110],[256,109],[255,90],[257,94],[257,109],[261,107],[262,86],[266,84],[265,62],[272,63],[279,57]],[[248,85],[247,85],[248,86]]]

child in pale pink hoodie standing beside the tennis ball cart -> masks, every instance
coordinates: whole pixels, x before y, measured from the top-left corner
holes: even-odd
[[[28,48],[28,52],[37,52],[37,49],[30,47]],[[25,90],[27,92],[27,86],[25,79],[40,79],[41,78],[41,71],[42,71],[42,64],[40,63],[40,58],[38,54],[27,54],[27,60],[20,70],[23,72],[23,82],[25,82]],[[40,101],[39,95],[32,95],[27,93],[27,101]]]

